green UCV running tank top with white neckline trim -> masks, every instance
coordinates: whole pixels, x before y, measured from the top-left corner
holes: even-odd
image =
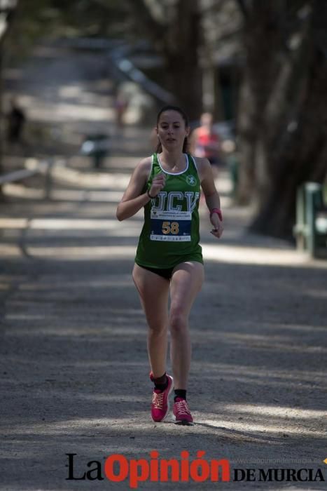
[[[181,173],[163,170],[158,154],[152,156],[152,168],[146,189],[153,177],[165,173],[165,187],[144,206],[144,226],[139,237],[135,262],[151,268],[172,268],[185,261],[202,260],[199,244],[200,179],[193,157],[184,154],[186,169]]]

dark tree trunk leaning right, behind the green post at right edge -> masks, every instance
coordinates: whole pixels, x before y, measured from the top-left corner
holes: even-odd
[[[316,36],[327,20],[321,0],[313,4],[309,29],[293,64],[283,65],[265,109],[257,170],[258,215],[253,231],[292,236],[298,186],[323,182],[327,173],[326,37]]]

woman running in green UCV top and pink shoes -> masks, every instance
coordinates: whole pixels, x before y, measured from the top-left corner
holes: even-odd
[[[174,388],[174,422],[191,425],[193,417],[186,400],[191,358],[188,316],[204,279],[200,186],[214,227],[211,234],[217,238],[223,232],[223,218],[209,161],[186,153],[190,133],[186,114],[179,107],[163,107],[156,133],[157,152],[135,168],[117,218],[125,220],[144,207],[132,276],[148,323],[152,419],[165,419]],[[174,378],[166,373],[168,326]]]

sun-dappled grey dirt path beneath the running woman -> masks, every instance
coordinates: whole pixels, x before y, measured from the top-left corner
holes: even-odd
[[[0,490],[127,490],[127,480],[67,480],[67,454],[76,454],[75,478],[100,465],[90,461],[105,477],[106,457],[149,461],[152,450],[179,462],[181,451],[192,462],[203,450],[207,461],[229,460],[232,481],[250,468],[256,480],[138,489],[325,489],[319,478],[263,482],[259,469],[313,469],[313,478],[321,469],[327,479],[327,263],[246,234],[247,210],[228,207],[224,175],[219,244],[201,210],[206,281],[190,318],[196,424],[151,422],[146,323],[130,274],[141,215],[114,217],[135,163],[117,157],[99,175],[78,162],[57,168],[51,201],[33,197],[32,180],[28,193],[9,188],[1,206]]]

